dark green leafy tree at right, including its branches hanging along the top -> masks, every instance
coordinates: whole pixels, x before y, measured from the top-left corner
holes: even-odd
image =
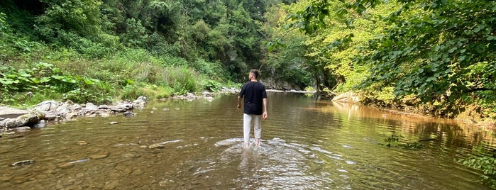
[[[360,88],[375,84],[394,86],[401,98],[414,94],[423,102],[451,106],[473,100],[494,108],[495,28],[494,1],[400,0],[402,6],[383,19],[388,26],[370,42],[373,54],[361,57],[370,77]],[[341,1],[336,13],[364,15],[382,1]],[[312,1],[290,15],[293,26],[314,35],[334,23],[326,22],[332,4]],[[356,18],[341,20],[353,27]],[[346,38],[343,38],[346,40]],[[472,97],[470,99],[470,97]]]

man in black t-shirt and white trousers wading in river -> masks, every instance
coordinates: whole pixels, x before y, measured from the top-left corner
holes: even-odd
[[[243,111],[243,137],[245,147],[250,147],[250,130],[251,123],[254,125],[255,146],[260,145],[260,136],[262,136],[261,118],[267,118],[267,92],[265,86],[258,82],[258,70],[251,69],[250,82],[246,82],[238,96],[238,108],[241,108],[241,99],[244,97]]]

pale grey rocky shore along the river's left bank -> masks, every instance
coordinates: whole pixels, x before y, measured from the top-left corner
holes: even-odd
[[[188,93],[182,96],[171,96],[169,99],[192,101],[195,99],[206,99],[214,101],[216,94],[235,94],[238,89],[223,88],[217,93],[204,91],[199,96]],[[24,132],[33,128],[45,128],[47,123],[58,123],[72,120],[77,117],[111,116],[122,114],[123,116],[134,116],[133,109],[144,108],[147,102],[145,96],[140,96],[135,101],[119,101],[114,105],[95,105],[92,103],[75,104],[68,100],[43,101],[29,110],[19,110],[0,106],[0,138],[16,132]]]

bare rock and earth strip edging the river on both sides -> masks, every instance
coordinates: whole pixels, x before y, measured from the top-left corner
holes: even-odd
[[[167,99],[177,99],[184,101],[193,101],[195,99],[206,99],[208,101],[214,101],[214,96],[217,94],[236,94],[238,89],[235,88],[222,88],[221,91],[216,93],[210,91],[203,91],[202,94],[195,95],[192,93],[187,93],[181,96],[170,96]],[[268,89],[267,91],[279,92],[279,93],[301,93],[301,94],[314,94],[316,91],[282,91],[276,89]],[[354,94],[353,92],[347,92],[339,94],[338,96],[333,95],[332,101],[341,104],[356,104],[360,106],[363,105],[360,102],[360,96]],[[167,99],[161,99],[165,101]],[[4,134],[13,134],[17,132],[23,132],[31,130],[32,128],[44,128],[47,124],[56,124],[68,120],[75,119],[77,117],[96,117],[102,116],[107,117],[111,115],[121,114],[126,117],[134,116],[133,113],[135,108],[144,108],[147,103],[147,98],[144,96],[138,97],[135,101],[118,101],[113,105],[95,105],[93,103],[87,104],[75,104],[72,101],[58,102],[58,101],[43,101],[40,104],[34,106],[28,110],[22,110],[17,108],[10,108],[6,106],[0,106],[0,137]],[[416,112],[414,109],[399,109],[392,107],[380,107],[380,106],[369,106],[380,109],[381,111],[386,111],[390,114],[408,116],[412,118],[439,118],[426,114],[421,114]],[[479,127],[493,129],[495,128],[495,121],[480,121],[474,117],[463,116],[454,118],[453,121],[456,123],[463,123],[463,125],[475,125]]]

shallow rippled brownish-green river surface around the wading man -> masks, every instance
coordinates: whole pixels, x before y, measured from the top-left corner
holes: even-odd
[[[268,99],[262,145],[248,149],[235,94],[9,135],[0,189],[487,189],[459,160],[491,131],[305,94]],[[20,160],[34,162],[11,167]]]

